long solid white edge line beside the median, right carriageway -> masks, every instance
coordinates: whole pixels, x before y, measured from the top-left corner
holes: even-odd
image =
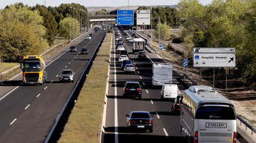
[[[115,42],[114,42],[115,45]],[[114,51],[114,84],[116,85],[116,50]],[[118,143],[117,87],[115,86],[115,143]]]

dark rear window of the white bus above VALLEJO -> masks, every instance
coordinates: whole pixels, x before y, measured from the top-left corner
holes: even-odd
[[[230,107],[200,107],[195,119],[206,120],[236,120],[236,114]]]

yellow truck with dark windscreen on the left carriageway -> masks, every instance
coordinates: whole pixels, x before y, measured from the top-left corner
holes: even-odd
[[[23,71],[23,83],[43,85],[47,80],[45,61],[40,55],[26,55],[20,69]]]

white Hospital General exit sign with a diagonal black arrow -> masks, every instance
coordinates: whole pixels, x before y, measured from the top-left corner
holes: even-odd
[[[194,47],[194,67],[236,67],[236,49],[233,47]]]

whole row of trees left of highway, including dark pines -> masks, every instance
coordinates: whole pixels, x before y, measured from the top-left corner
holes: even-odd
[[[69,37],[70,23],[72,37],[79,35],[80,25],[86,26],[86,20],[81,20],[88,18],[86,14],[85,7],[74,3],[48,8],[17,3],[1,9],[0,61],[17,62],[23,55],[42,53],[53,45],[57,34]]]

